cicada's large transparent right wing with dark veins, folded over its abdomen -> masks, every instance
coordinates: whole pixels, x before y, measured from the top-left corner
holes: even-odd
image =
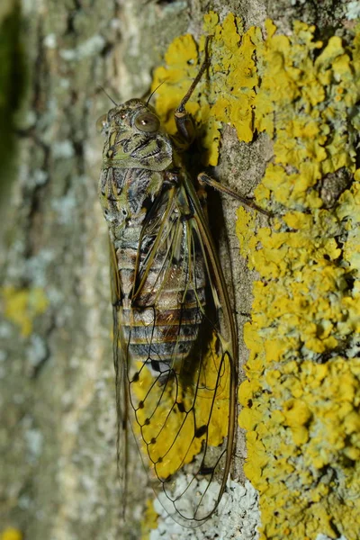
[[[163,193],[148,212],[130,305],[127,328],[114,320],[124,359],[119,369],[114,347],[120,420],[125,410],[168,514],[196,526],[217,508],[229,475],[238,359],[220,262],[192,184]]]

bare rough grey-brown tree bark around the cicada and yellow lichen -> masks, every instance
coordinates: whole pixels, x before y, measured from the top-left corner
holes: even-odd
[[[144,94],[168,43],[185,31],[199,37],[202,15],[210,8],[242,16],[246,27],[262,26],[269,16],[281,31],[298,18],[326,32],[336,29],[340,5],[335,0],[231,0],[226,6],[218,0],[2,3],[7,71],[0,79],[0,115],[10,126],[10,112],[17,110],[17,142],[14,147],[11,130],[2,132],[7,160],[1,157],[0,164],[6,186],[1,272],[4,298],[14,293],[4,309],[17,305],[23,312],[17,322],[7,312],[0,326],[4,527],[33,539],[125,536],[115,459],[107,233],[96,197],[102,140],[94,122],[109,108],[99,85],[115,100]],[[12,31],[6,33],[9,25]],[[248,146],[227,129],[215,173],[248,193],[268,157],[266,137]],[[225,224],[236,305],[246,314],[251,275],[244,278],[245,265],[238,260],[235,206],[227,203]],[[41,294],[49,302],[46,310],[39,305]],[[145,499],[137,460],[134,455],[133,538],[139,538],[135,521]]]

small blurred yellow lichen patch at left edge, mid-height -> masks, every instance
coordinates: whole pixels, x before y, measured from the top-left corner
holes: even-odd
[[[1,291],[4,316],[20,327],[24,338],[30,336],[33,320],[47,311],[49,300],[42,289],[15,289],[4,287]]]

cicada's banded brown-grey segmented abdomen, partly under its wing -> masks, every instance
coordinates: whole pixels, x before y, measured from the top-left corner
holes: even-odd
[[[117,252],[124,293],[121,332],[131,359],[150,362],[157,374],[168,372],[189,356],[198,337],[205,306],[202,266],[196,268],[196,280],[186,279],[186,261],[163,268],[160,253],[148,269],[139,296],[131,301],[136,254],[129,248]]]

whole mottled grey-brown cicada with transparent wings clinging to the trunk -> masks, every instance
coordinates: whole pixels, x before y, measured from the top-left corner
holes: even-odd
[[[204,184],[216,183],[193,179],[184,160],[195,136],[185,104],[206,66],[175,111],[175,136],[141,99],[99,119],[118,452],[131,429],[159,500],[190,527],[211,517],[226,488],[238,380],[237,330],[206,215]]]

